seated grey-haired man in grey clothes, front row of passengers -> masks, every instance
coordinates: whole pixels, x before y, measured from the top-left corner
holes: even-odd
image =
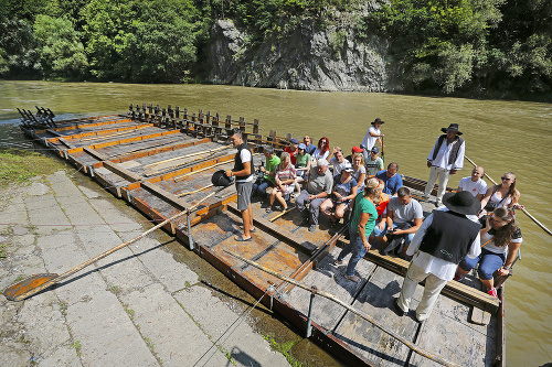
[[[315,231],[320,215],[320,204],[331,194],[333,179],[328,170],[328,161],[319,159],[316,168],[310,169],[307,188],[301,191],[295,203],[301,215],[310,222],[309,231]],[[306,205],[310,203],[309,213]]]

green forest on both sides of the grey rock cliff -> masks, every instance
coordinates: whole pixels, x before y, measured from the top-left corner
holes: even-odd
[[[206,83],[217,19],[381,37],[407,93],[552,95],[550,0],[0,0],[0,77]]]

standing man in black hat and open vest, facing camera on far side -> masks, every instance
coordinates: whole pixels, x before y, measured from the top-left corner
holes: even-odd
[[[464,152],[466,144],[461,132],[458,131],[458,123],[450,123],[448,128],[443,128],[440,131],[445,132],[437,138],[429,155],[427,155],[427,168],[429,169],[429,179],[425,185],[424,198],[427,199],[432,193],[433,185],[439,179],[437,199],[435,206],[440,205],[443,194],[447,187],[448,177],[456,174],[456,171],[461,170],[464,166]]]

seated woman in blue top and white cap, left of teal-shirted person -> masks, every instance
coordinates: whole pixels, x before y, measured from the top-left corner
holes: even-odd
[[[349,209],[351,199],[357,196],[357,181],[352,177],[352,166],[348,165],[341,171],[340,175],[333,179],[331,191],[331,197],[320,205],[320,211],[330,217],[333,227]],[[331,213],[332,208],[336,208],[333,214]]]

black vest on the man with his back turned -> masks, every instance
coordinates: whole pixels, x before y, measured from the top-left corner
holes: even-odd
[[[436,258],[459,263],[468,253],[481,226],[461,214],[433,211],[433,222],[420,250]]]

